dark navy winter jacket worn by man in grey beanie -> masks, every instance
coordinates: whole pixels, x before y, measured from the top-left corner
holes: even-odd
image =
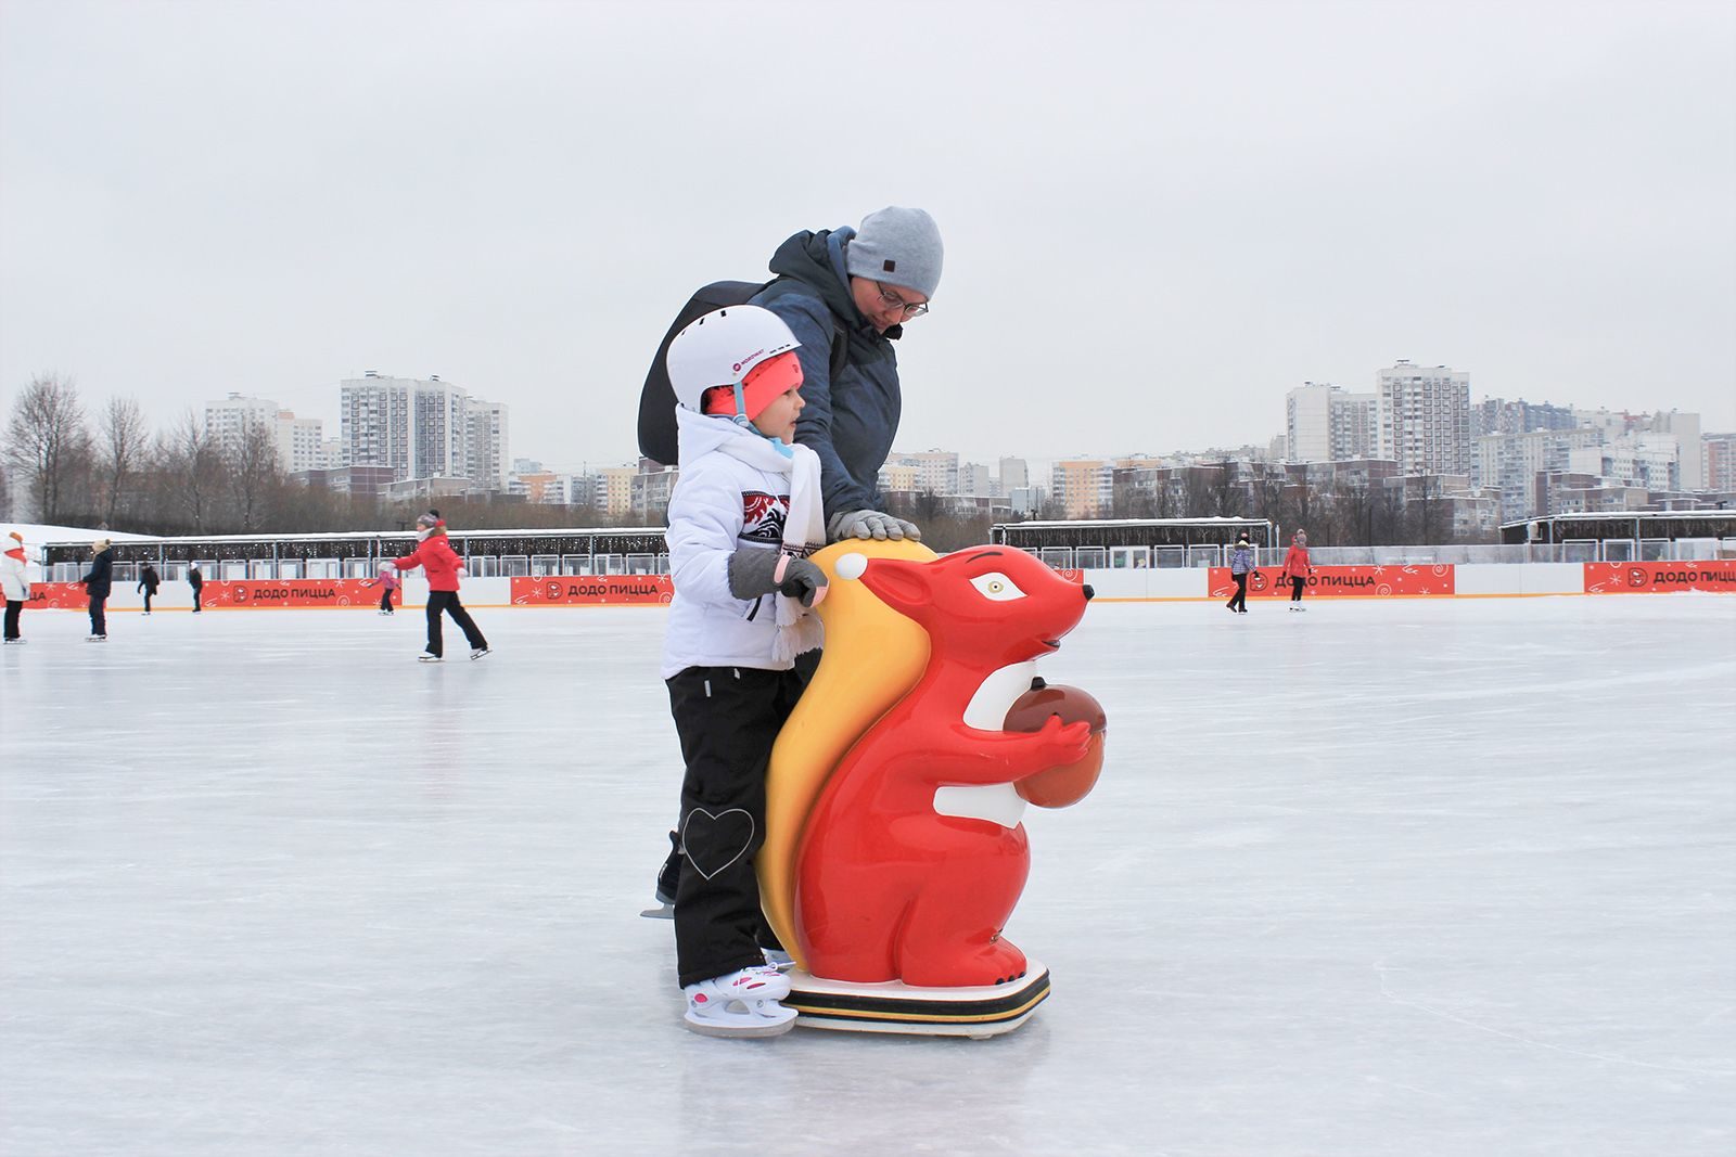
[[[795,423],[795,441],[819,454],[826,519],[849,510],[884,510],[877,479],[892,453],[903,409],[891,338],[903,337],[904,328],[877,333],[856,309],[844,271],[844,248],[854,236],[849,227],[795,234],[773,253],[778,281],[753,298],[783,317],[802,343],[795,354],[807,406]],[[849,338],[849,357],[833,382],[837,331]]]

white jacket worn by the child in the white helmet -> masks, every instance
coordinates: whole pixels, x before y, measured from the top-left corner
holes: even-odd
[[[778,616],[773,597],[729,593],[729,555],[776,550],[790,510],[790,475],[771,474],[719,449],[727,439],[757,439],[729,418],[675,409],[681,480],[668,503],[668,567],[675,600],[663,637],[661,677],[689,666],[750,666],[788,671],[773,659]]]

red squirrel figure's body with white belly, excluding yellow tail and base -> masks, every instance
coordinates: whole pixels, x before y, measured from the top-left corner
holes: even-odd
[[[1002,938],[1029,845],[1017,782],[1087,756],[1092,727],[1005,730],[1038,657],[1090,590],[1002,546],[934,562],[840,560],[929,635],[922,677],[826,779],[797,845],[797,937],[807,970],[913,987],[995,985],[1026,958]]]

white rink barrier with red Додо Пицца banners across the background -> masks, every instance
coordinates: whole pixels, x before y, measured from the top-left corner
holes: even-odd
[[[1248,583],[1248,600],[1288,598],[1276,583],[1278,567],[1259,567]],[[1061,571],[1073,583],[1090,583],[1099,602],[1203,602],[1226,600],[1233,590],[1229,567]],[[1316,567],[1304,600],[1316,598],[1524,598],[1542,595],[1663,595],[1736,593],[1736,560],[1700,562],[1526,562],[1526,564],[1411,564],[1389,567]],[[557,578],[465,579],[460,592],[472,609],[510,607],[661,607],[674,597],[667,574],[611,574]],[[33,583],[28,609],[83,611],[78,583]],[[377,609],[378,586],[363,579],[250,579],[207,581],[208,611],[295,611],[314,607]],[[406,576],[394,598],[401,611],[422,611],[427,586]],[[116,588],[109,611],[139,611],[144,597],[132,586]],[[165,583],[153,611],[187,611],[186,583]]]

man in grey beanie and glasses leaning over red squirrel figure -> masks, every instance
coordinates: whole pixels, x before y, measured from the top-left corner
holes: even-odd
[[[920,208],[891,206],[849,226],[799,232],[771,258],[778,279],[753,305],[778,314],[802,343],[802,416],[795,441],[819,454],[826,533],[840,538],[922,538],[884,513],[880,467],[892,451],[903,395],[892,342],[929,312],[941,283],[941,231]],[[832,343],[847,357],[837,380]]]

